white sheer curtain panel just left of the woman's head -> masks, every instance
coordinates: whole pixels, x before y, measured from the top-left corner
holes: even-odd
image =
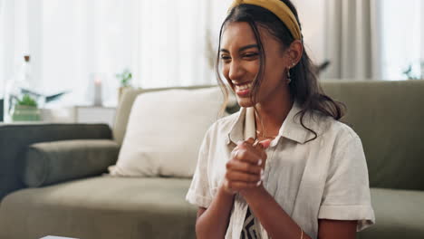
[[[141,1],[140,86],[211,83],[206,1]]]

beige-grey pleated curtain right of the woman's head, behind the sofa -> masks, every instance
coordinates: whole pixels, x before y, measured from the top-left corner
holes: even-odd
[[[384,1],[382,1],[384,2]],[[327,0],[325,78],[381,78],[381,8],[379,0]]]

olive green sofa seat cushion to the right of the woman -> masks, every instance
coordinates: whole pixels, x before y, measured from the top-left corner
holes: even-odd
[[[365,229],[359,239],[424,238],[424,192],[371,188],[376,225]]]

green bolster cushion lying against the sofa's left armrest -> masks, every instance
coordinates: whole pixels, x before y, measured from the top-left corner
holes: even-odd
[[[100,175],[116,162],[119,150],[111,139],[36,143],[26,151],[23,181],[26,186],[45,186]]]

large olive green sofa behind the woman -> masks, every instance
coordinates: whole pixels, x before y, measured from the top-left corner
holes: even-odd
[[[357,237],[424,238],[424,81],[322,86],[347,106],[342,120],[361,137],[367,158],[376,225]],[[183,89],[203,87],[210,86]],[[195,238],[197,207],[185,201],[190,178],[106,174],[118,158],[137,95],[164,90],[125,91],[113,129],[1,125],[0,239]]]

